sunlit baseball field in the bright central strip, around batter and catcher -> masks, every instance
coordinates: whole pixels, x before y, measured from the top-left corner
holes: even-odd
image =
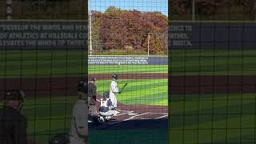
[[[128,83],[117,94],[121,113],[89,125],[91,143],[168,143],[167,65],[90,65],[89,74],[98,79],[99,94],[109,90],[111,74],[118,74],[119,88]]]

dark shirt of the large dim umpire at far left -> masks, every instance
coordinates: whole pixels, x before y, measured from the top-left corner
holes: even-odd
[[[26,143],[26,118],[13,108],[0,109],[0,144]]]

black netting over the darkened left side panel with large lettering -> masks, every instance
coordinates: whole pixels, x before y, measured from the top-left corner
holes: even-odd
[[[87,77],[87,2],[1,0],[0,11],[0,143],[69,138],[78,81]],[[26,121],[9,90],[25,93]]]

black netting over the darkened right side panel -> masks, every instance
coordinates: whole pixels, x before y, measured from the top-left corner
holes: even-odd
[[[255,143],[255,1],[175,2],[170,142]]]

